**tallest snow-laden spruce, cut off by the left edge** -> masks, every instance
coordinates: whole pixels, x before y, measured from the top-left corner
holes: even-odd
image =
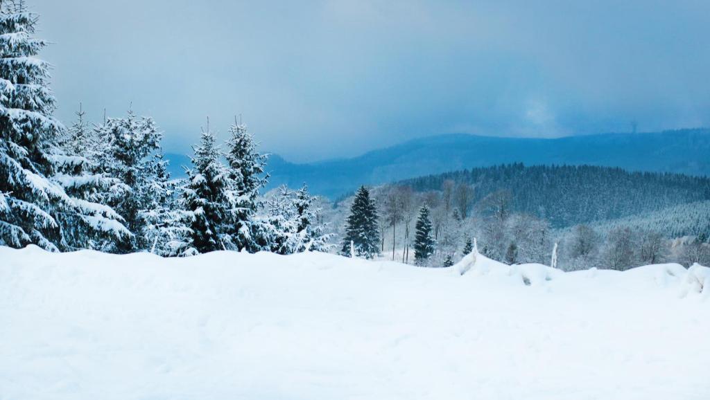
[[[0,245],[67,250],[65,232],[77,229],[78,238],[80,226],[128,235],[111,209],[72,198],[51,179],[80,161],[57,145],[65,128],[52,116],[50,66],[36,58],[47,44],[33,38],[37,21],[23,1],[0,3]]]

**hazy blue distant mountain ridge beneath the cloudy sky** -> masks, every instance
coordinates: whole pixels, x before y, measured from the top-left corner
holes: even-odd
[[[280,184],[296,187],[306,182],[313,193],[334,197],[361,184],[383,184],[513,162],[710,175],[710,130],[606,133],[554,139],[438,135],[373,150],[359,157],[309,164],[295,164],[272,155],[267,170],[271,172],[269,188]]]

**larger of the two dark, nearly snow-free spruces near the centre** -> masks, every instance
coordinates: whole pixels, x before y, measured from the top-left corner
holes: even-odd
[[[360,187],[350,207],[340,254],[349,257],[352,242],[358,257],[373,258],[378,255],[380,234],[377,218],[376,205],[370,198],[370,191],[364,186]]]

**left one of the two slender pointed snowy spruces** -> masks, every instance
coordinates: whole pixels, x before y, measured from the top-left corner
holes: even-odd
[[[183,189],[183,209],[192,213],[192,234],[185,248],[193,252],[211,252],[234,249],[230,235],[234,231],[236,201],[231,191],[229,170],[222,165],[222,153],[214,144],[214,133],[207,128],[202,132],[200,145],[194,146],[192,170],[187,171],[187,184]]]

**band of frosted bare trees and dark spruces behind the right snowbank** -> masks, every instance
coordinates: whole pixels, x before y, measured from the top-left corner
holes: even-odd
[[[563,270],[626,270],[660,262],[710,263],[706,230],[676,238],[651,224],[618,223],[606,229],[577,224],[555,229],[545,218],[515,210],[513,191],[494,191],[478,201],[474,200],[478,198],[475,192],[476,187],[452,180],[444,181],[438,190],[425,192],[403,184],[361,188],[351,201],[342,200],[343,204],[350,203],[347,211],[339,205],[334,212],[348,213],[341,254],[445,267],[469,254],[472,242],[477,240],[479,252],[494,260],[551,265],[554,257]],[[677,216],[679,210],[682,208],[671,208],[671,215]]]

